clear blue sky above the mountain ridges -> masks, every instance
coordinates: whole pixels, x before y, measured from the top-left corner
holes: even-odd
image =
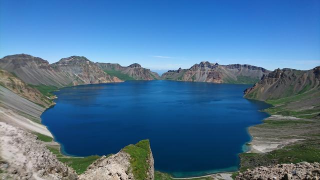
[[[151,69],[320,65],[320,0],[0,0],[0,56]]]

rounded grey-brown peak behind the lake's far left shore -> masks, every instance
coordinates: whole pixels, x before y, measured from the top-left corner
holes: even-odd
[[[83,56],[70,56],[50,64],[58,72],[63,72],[72,79],[71,85],[121,82],[115,76],[103,72],[95,63]]]

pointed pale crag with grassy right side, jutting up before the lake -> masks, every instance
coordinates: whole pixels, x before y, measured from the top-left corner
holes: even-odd
[[[144,149],[147,148],[148,150]],[[134,152],[134,153],[132,153]],[[144,159],[143,154],[147,152]],[[140,154],[136,156],[136,154]],[[145,167],[136,166],[136,163],[146,164]],[[81,174],[80,179],[154,179],[152,152],[148,140],[141,140],[136,144],[130,144],[118,153],[110,156],[102,156],[93,162],[87,170]],[[145,176],[141,177],[141,174]]]

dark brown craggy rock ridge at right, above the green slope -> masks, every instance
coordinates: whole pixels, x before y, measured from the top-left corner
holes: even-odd
[[[275,69],[264,74],[253,87],[244,90],[246,98],[272,100],[320,89],[320,66],[310,70]]]

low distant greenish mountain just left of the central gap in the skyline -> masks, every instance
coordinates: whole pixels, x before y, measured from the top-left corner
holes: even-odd
[[[133,63],[129,66],[121,66],[118,63],[100,63],[96,62],[104,72],[117,76],[122,80],[154,80],[160,79],[156,72],[150,69],[141,67],[138,63]]]

